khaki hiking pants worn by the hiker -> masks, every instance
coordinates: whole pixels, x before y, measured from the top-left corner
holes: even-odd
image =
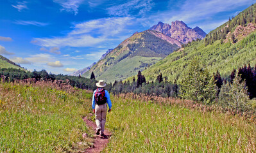
[[[95,118],[96,118],[96,125],[98,129],[101,130],[101,134],[104,133],[105,130],[105,123],[106,123],[106,115],[107,115],[107,103],[103,105],[95,105]]]

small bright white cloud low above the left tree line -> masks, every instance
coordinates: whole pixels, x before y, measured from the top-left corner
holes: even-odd
[[[26,57],[25,59],[35,64],[46,64],[47,62],[53,61],[55,58],[50,54],[35,54],[30,55],[30,57]]]

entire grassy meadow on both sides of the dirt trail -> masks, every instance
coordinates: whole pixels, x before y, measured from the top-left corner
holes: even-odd
[[[0,152],[85,151],[95,133],[82,120],[91,97],[46,82],[0,83]],[[253,119],[180,99],[111,98],[112,137],[103,152],[256,152]]]

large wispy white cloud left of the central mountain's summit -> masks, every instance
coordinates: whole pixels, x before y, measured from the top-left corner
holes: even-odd
[[[131,17],[99,18],[75,24],[73,30],[64,37],[34,38],[31,42],[42,47],[92,47],[96,44],[123,39]],[[121,38],[121,37],[122,38]]]

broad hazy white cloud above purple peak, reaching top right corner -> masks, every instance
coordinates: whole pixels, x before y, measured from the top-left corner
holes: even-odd
[[[175,3],[175,2],[173,2]],[[191,22],[199,22],[200,20],[214,20],[214,15],[226,11],[232,10],[239,6],[246,5],[246,3],[253,3],[252,0],[187,0],[177,11],[164,11],[152,15],[148,20],[155,20],[155,22],[162,21],[171,23],[175,20],[183,20],[186,24]],[[155,19],[157,18],[157,20]],[[226,18],[228,20],[228,17]],[[214,22],[213,22],[214,23]]]

